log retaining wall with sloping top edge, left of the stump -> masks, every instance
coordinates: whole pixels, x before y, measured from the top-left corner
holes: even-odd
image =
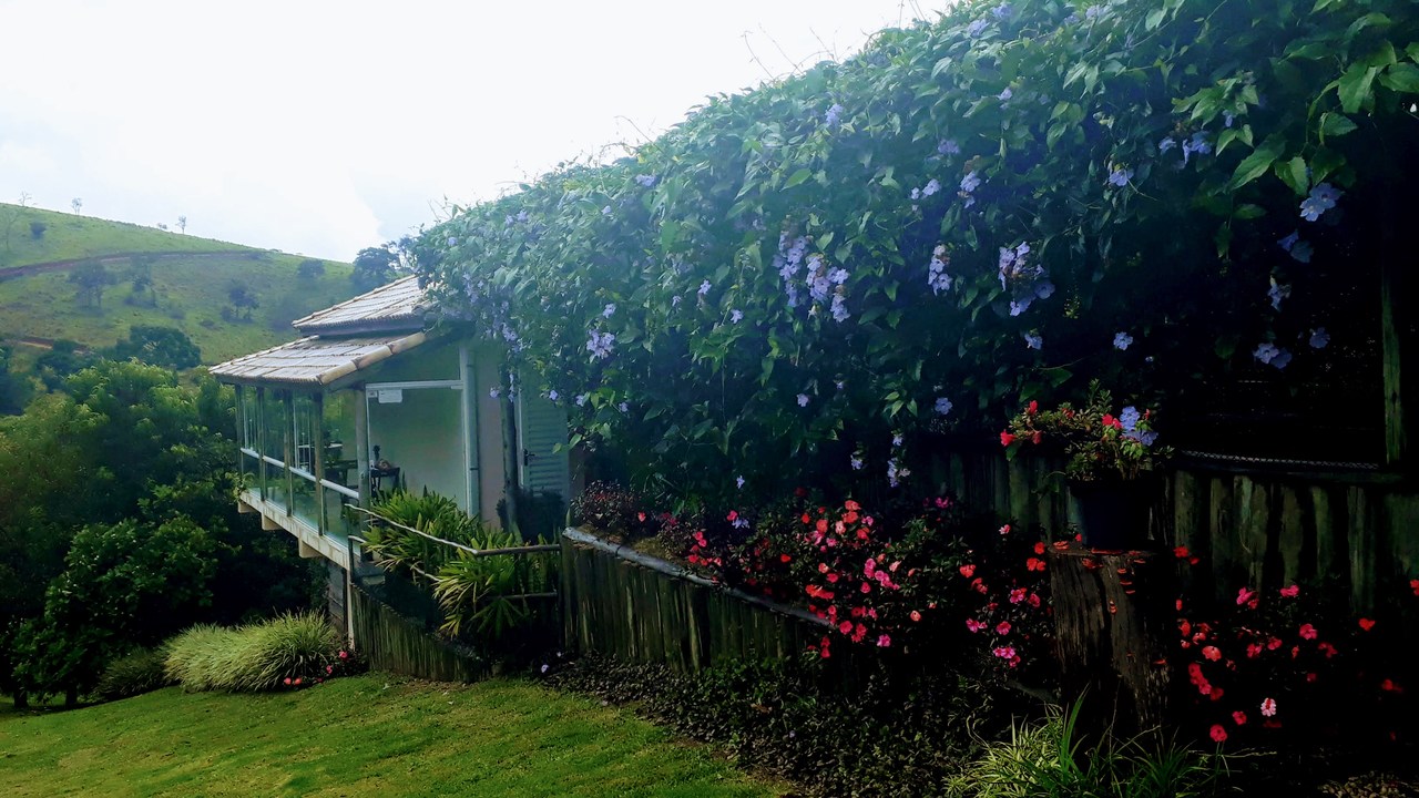
[[[663,663],[683,673],[797,656],[827,633],[824,621],[802,609],[725,588],[579,530],[562,532],[562,601],[569,649]]]

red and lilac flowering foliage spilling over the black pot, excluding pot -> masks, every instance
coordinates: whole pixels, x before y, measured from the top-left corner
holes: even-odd
[[[1171,449],[1154,446],[1156,440],[1151,410],[1130,405],[1115,415],[1112,396],[1097,382],[1078,409],[1064,402],[1040,410],[1032,400],[1000,433],[1007,457],[1027,446],[1060,452],[1067,460],[1064,474],[1084,481],[1137,480],[1172,454]]]

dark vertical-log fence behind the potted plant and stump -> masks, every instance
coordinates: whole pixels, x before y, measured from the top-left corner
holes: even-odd
[[[1059,463],[1013,461],[999,453],[942,453],[937,483],[973,507],[993,508],[1063,537],[1074,518],[1066,491],[1051,490]],[[1237,588],[1330,581],[1359,612],[1384,589],[1419,574],[1419,486],[1378,470],[1296,470],[1179,459],[1162,474],[1152,535],[1185,545],[1218,598]]]

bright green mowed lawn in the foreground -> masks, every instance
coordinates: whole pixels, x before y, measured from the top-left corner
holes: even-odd
[[[0,703],[0,795],[776,795],[627,710],[521,680]]]

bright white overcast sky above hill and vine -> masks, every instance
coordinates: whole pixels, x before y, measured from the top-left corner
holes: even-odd
[[[942,0],[0,0],[0,200],[350,260]]]

